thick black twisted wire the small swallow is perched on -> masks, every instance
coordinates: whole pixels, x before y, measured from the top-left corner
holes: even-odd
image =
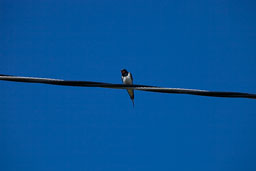
[[[68,81],[68,80],[61,80],[61,79],[20,77],[20,76],[2,75],[2,74],[0,74],[0,80],[26,82],[26,83],[42,83],[42,84],[52,84],[52,85],[61,85],[61,86],[134,89],[134,90],[150,91],[150,92],[157,92],[157,93],[172,93],[172,94],[175,93],[175,94],[190,94],[190,95],[211,96],[211,97],[256,99],[256,94],[250,94],[250,93],[220,92],[220,91],[207,91],[207,90],[183,89],[183,88],[164,88],[164,87],[138,85],[138,84],[123,85],[123,84],[111,84],[111,83],[93,82],[93,81]]]

